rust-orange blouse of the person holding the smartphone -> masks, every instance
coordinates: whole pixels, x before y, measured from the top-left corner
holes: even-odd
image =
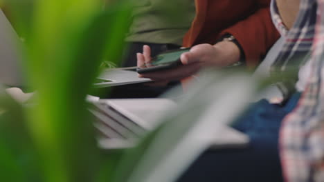
[[[196,17],[183,39],[183,46],[216,43],[230,33],[242,45],[249,68],[279,38],[270,15],[271,0],[195,0]]]

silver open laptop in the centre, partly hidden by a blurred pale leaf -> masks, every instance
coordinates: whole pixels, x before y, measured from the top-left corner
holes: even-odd
[[[89,110],[96,118],[95,126],[100,133],[99,145],[103,149],[135,147],[143,136],[165,122],[165,116],[188,107],[183,104],[178,105],[172,99],[166,98],[101,99],[92,103],[93,107]],[[204,107],[206,105],[208,103],[204,104]],[[194,109],[197,116],[200,114],[204,116],[202,114],[204,107]],[[190,108],[188,108],[188,112],[190,112]],[[190,119],[195,120],[194,118]],[[213,139],[210,148],[242,148],[249,143],[249,137],[242,132],[234,130],[226,124],[220,124],[219,128],[222,129],[215,130],[215,139]]]

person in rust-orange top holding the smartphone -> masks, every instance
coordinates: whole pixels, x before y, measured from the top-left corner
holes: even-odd
[[[183,46],[195,45],[190,52],[181,57],[181,62],[188,66],[181,67],[182,70],[141,74],[141,77],[170,81],[188,77],[201,67],[224,67],[238,61],[246,63],[249,68],[258,65],[260,59],[278,39],[277,31],[273,28],[269,17],[269,1],[255,1],[249,5],[246,1],[242,1],[242,6],[237,4],[240,2],[208,1],[207,6],[205,1],[196,1],[197,16],[183,39]],[[228,6],[228,4],[235,4],[235,6]],[[251,8],[256,9],[244,15]],[[235,16],[226,18],[228,22],[222,21],[224,20],[222,15],[226,16],[225,14],[228,13]],[[205,44],[197,45],[197,43]],[[151,51],[150,46],[144,45],[143,54],[137,54],[138,60],[150,61],[151,57],[154,57]]]

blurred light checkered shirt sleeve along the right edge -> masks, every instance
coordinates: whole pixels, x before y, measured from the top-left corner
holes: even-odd
[[[309,25],[315,29],[312,73],[297,107],[282,123],[280,157],[285,181],[324,181],[324,0],[303,0],[300,9],[308,17],[317,12],[316,25]]]

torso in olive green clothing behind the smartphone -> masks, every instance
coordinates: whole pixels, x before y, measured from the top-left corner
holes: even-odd
[[[194,0],[134,1],[134,5],[132,23],[125,38],[128,46],[123,67],[136,65],[136,53],[142,52],[145,44],[150,45],[153,56],[181,47],[183,36],[195,17]],[[181,14],[174,15],[176,11]]]

